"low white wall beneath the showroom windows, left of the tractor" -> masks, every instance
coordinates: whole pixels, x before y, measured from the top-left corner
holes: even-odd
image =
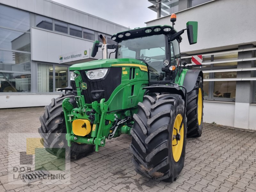
[[[45,106],[51,103],[52,98],[57,98],[60,93],[55,94],[4,94],[0,95],[0,108],[19,108]]]

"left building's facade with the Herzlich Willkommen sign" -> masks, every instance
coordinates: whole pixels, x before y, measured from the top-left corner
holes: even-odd
[[[69,85],[68,67],[94,40],[126,27],[50,0],[0,0],[0,108],[44,106]]]

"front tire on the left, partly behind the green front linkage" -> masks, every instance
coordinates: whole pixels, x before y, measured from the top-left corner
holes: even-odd
[[[67,129],[62,110],[62,101],[65,98],[70,98],[69,102],[74,107],[77,107],[73,93],[61,94],[60,97],[53,98],[52,103],[49,106],[45,106],[44,115],[40,116],[41,127],[38,129],[38,132],[42,137],[41,142],[45,149],[52,155],[79,159],[90,153],[94,146],[72,143],[70,150],[65,150],[68,148],[68,142],[65,138]],[[70,151],[70,154],[67,151]]]

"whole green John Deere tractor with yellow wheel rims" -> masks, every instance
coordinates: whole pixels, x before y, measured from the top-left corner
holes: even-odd
[[[197,41],[197,22],[187,28],[135,28],[117,33],[116,43],[95,41],[92,57],[103,59],[70,66],[68,90],[45,107],[38,132],[46,150],[58,157],[89,154],[106,139],[132,135],[135,170],[148,178],[172,182],[184,166],[186,138],[200,137],[203,124],[203,73],[180,62],[181,34]],[[115,49],[115,59],[107,50]],[[110,56],[109,56],[110,57]],[[196,67],[199,67],[198,65]],[[54,134],[49,134],[54,133]],[[60,134],[64,133],[64,134]],[[63,136],[64,135],[64,136]]]

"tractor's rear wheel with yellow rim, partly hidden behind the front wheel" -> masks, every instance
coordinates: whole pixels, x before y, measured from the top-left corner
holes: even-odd
[[[194,89],[188,92],[187,118],[188,137],[200,137],[203,129],[203,108],[204,108],[203,79],[197,77]]]

